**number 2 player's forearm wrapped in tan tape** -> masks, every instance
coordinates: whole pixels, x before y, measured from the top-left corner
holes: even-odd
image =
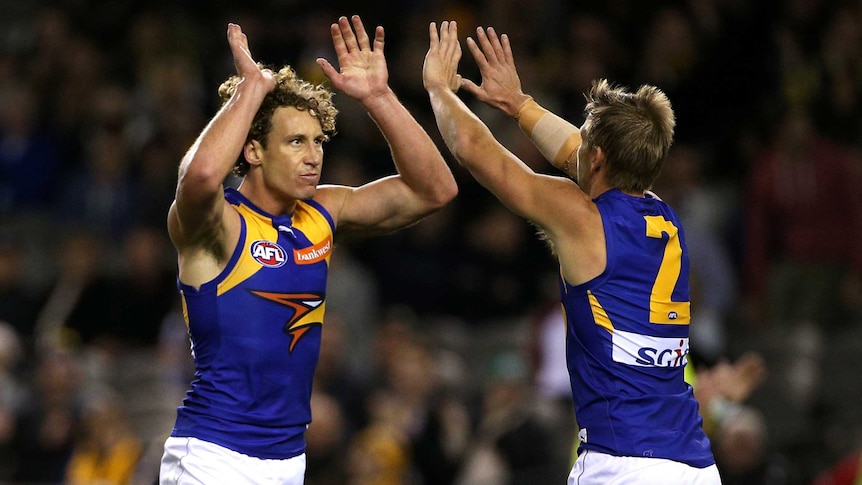
[[[581,144],[580,129],[541,107],[532,98],[518,109],[514,118],[521,130],[530,137],[533,145],[558,169],[570,175],[570,161]]]

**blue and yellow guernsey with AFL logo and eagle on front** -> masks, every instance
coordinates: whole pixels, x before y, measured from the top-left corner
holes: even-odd
[[[273,216],[233,189],[239,243],[200,289],[178,283],[195,360],[171,436],[263,459],[305,451],[334,224],[314,201]]]

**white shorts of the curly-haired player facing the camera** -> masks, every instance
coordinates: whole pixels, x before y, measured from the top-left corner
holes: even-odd
[[[165,441],[159,485],[303,485],[305,454],[264,460],[197,438]]]

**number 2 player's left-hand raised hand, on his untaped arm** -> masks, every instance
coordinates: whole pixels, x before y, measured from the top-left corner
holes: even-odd
[[[458,25],[454,21],[444,20],[438,35],[437,24],[431,22],[428,34],[431,41],[422,66],[423,85],[427,90],[446,86],[457,92],[461,87],[461,76],[458,74],[458,61],[461,60]]]

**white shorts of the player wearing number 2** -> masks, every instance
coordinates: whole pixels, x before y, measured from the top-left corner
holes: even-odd
[[[718,467],[695,468],[664,458],[611,456],[586,450],[578,456],[568,485],[721,485]]]

